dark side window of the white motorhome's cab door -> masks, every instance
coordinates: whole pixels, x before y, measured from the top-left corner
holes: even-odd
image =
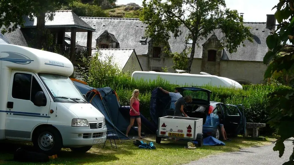
[[[34,102],[36,92],[43,91],[36,78],[26,73],[14,74],[12,97]]]

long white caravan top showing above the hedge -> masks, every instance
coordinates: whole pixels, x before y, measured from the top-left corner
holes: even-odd
[[[189,73],[163,73],[155,71],[134,71],[132,79],[143,80],[156,80],[158,75],[169,81],[171,84],[185,85],[185,86],[202,86],[202,85],[213,85],[222,87],[234,87],[243,89],[242,85],[238,82],[225,77],[219,77],[215,75],[196,75]]]

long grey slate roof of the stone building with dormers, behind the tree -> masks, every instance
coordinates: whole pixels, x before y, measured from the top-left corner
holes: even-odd
[[[148,41],[150,41],[150,38],[147,39],[147,44],[141,44],[139,42],[141,37],[146,36],[146,25],[139,19],[102,17],[81,17],[81,19],[88,23],[92,28],[96,29],[96,32],[93,32],[92,47],[96,47],[95,39],[107,30],[117,38],[120,48],[135,48],[137,54],[147,55]],[[254,42],[250,43],[249,41],[244,41],[245,47],[240,45],[236,53],[230,54],[227,50],[224,50],[221,58],[222,60],[263,61],[263,57],[268,51],[266,37],[270,34],[271,30],[265,28],[265,22],[245,22],[244,26],[251,27],[250,32],[254,35]],[[181,27],[181,31],[181,36],[177,38],[172,37],[168,40],[172,53],[181,53],[186,46],[184,41],[189,31],[183,26]],[[223,37],[220,30],[215,30],[214,33],[218,39]],[[70,35],[70,33],[67,34]],[[208,38],[211,35],[208,35]],[[202,58],[202,44],[205,43],[208,38],[199,41],[200,48],[196,47],[194,58]],[[76,33],[76,41],[82,46],[86,46],[87,33]]]

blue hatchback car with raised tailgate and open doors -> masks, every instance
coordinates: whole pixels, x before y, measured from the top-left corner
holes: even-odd
[[[246,118],[243,105],[230,105],[210,101],[211,91],[198,87],[176,88],[183,97],[190,95],[191,103],[184,105],[188,117],[203,118],[203,134],[220,139],[220,124],[227,134],[237,136],[245,132]],[[174,101],[175,102],[175,101]],[[170,107],[170,102],[167,107]],[[174,110],[166,108],[166,115],[173,115]]]

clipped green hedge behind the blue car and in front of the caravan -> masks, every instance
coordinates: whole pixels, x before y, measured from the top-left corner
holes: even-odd
[[[132,91],[134,89],[140,90],[140,112],[150,119],[149,104],[151,92],[156,87],[163,87],[168,91],[174,91],[175,85],[169,85],[163,80],[157,80],[147,82],[143,80],[133,81],[129,78],[119,78],[116,81],[117,86],[113,86],[120,99],[121,105],[129,105]],[[244,106],[244,113],[247,122],[266,123],[268,114],[265,112],[265,106],[267,104],[267,95],[270,92],[277,90],[278,88],[285,88],[284,86],[276,85],[244,85],[243,90],[225,88],[225,87],[213,87],[210,85],[201,86],[202,88],[212,91],[211,100],[217,102],[223,102],[225,104]],[[150,119],[151,120],[151,119]],[[260,129],[261,134],[271,135],[274,132],[268,126]]]

